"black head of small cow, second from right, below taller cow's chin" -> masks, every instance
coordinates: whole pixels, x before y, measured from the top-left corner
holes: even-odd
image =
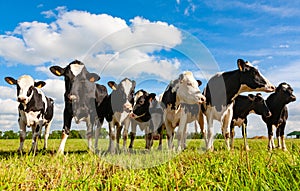
[[[265,99],[260,93],[256,95],[249,94],[248,99],[252,102],[251,107],[254,113],[262,115],[263,117],[270,117],[272,115]]]

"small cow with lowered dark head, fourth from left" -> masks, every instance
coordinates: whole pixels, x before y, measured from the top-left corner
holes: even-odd
[[[145,131],[146,149],[151,149],[154,133],[162,124],[162,108],[156,99],[155,93],[148,93],[141,89],[135,93],[131,117],[131,132],[129,149],[133,148],[136,127],[139,125]],[[161,139],[160,139],[161,146]]]

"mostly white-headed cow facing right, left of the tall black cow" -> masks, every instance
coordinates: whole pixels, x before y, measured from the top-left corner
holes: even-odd
[[[196,110],[200,110],[200,105],[205,102],[205,97],[201,94],[199,86],[201,81],[196,81],[190,71],[180,74],[179,78],[171,81],[163,93],[162,103],[164,104],[164,123],[167,130],[168,147],[173,148],[174,129],[178,127],[177,139],[180,151],[185,148],[185,133],[187,123],[198,119],[200,112],[191,114],[188,112],[190,105],[196,104]]]

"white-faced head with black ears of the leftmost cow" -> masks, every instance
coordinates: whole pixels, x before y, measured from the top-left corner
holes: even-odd
[[[34,87],[42,88],[46,82],[35,82],[31,76],[23,75],[18,80],[12,77],[5,77],[5,81],[10,85],[17,86],[17,101],[23,104],[27,104],[32,96]]]

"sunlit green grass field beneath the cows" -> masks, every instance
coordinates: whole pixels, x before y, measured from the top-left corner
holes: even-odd
[[[48,151],[37,156],[16,153],[19,140],[0,140],[0,190],[300,190],[300,140],[288,139],[287,152],[267,151],[266,140],[249,140],[248,153],[242,140],[234,151],[223,142],[215,140],[209,153],[202,140],[190,140],[181,153],[98,156],[84,140],[69,139],[58,157],[60,140],[49,140]],[[144,144],[136,140],[135,148]]]

